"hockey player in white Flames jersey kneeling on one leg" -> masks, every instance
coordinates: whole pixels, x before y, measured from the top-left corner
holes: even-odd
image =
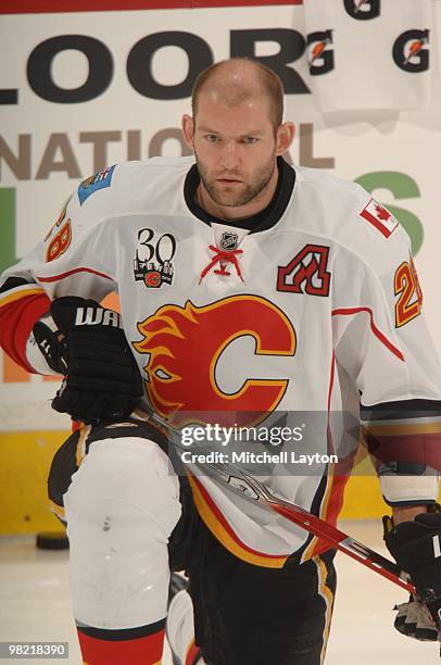
[[[160,662],[169,570],[182,568],[197,647],[181,660],[323,662],[329,543],[215,476],[182,474],[176,460],[171,470],[166,437],[134,410],[142,392],[175,429],[196,413],[331,414],[345,378],[392,506],[388,547],[419,595],[398,626],[437,639],[441,371],[408,238],[357,185],[284,161],[294,127],[279,79],[256,62],[202,73],[182,130],[196,159],[118,164],[83,181],[1,281],[3,348],[30,372],[61,372],[53,406],[85,424],[49,484],[68,524],[84,662]],[[121,317],[98,304],[116,290]],[[312,452],[329,452],[330,418],[319,434]],[[336,522],[344,478],[331,463],[267,481]]]

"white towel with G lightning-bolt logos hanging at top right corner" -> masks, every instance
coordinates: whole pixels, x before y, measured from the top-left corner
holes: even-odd
[[[304,11],[320,111],[429,104],[432,0],[304,0]]]

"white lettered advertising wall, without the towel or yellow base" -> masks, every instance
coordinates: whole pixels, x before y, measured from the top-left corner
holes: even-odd
[[[366,80],[365,101],[360,102],[365,108],[332,112],[320,109],[317,72],[324,80],[329,68],[338,70],[339,58],[341,64],[350,54],[335,51],[335,26],[325,23],[318,35],[307,33],[301,2],[133,1],[124,10],[119,2],[103,0],[87,7],[49,0],[8,4],[1,11],[16,13],[0,16],[8,53],[0,62],[1,267],[47,233],[78,180],[117,161],[186,153],[180,117],[189,111],[198,73],[230,55],[256,57],[285,83],[286,118],[297,124],[288,159],[357,180],[410,233],[426,314],[441,350],[440,2],[432,3],[431,24],[415,27],[427,39],[392,39],[402,45],[402,63],[411,67],[405,80],[421,67],[430,77],[421,108],[382,109],[381,99],[373,104],[371,77],[382,72],[375,71],[374,59],[370,66],[354,53],[352,81]],[[381,9],[374,0],[341,4],[350,17],[360,7],[354,26]],[[344,85],[351,86],[351,77]],[[0,390],[3,430],[65,423],[48,409],[53,381],[30,377],[4,355]]]

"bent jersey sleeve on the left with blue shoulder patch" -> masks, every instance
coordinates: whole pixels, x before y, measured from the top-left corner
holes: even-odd
[[[84,180],[46,237],[0,278],[0,346],[28,372],[26,343],[52,300],[100,301],[116,289],[115,177],[112,166]]]

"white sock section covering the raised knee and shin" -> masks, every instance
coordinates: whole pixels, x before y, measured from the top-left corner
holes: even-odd
[[[78,623],[117,629],[164,618],[181,506],[161,448],[137,437],[93,441],[63,499]]]

